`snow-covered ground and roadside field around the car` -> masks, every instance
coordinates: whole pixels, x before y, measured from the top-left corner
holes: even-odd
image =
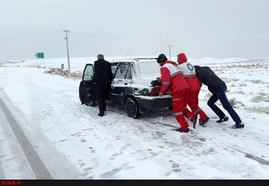
[[[71,58],[71,72],[81,74],[95,60]],[[124,107],[108,104],[98,117],[98,107],[80,103],[80,79],[44,73],[62,64],[67,70],[67,59],[0,61],[0,98],[51,179],[269,179],[269,59],[188,61],[210,66],[227,83],[244,129],[230,129],[231,117],[216,122],[206,86],[199,100],[210,122],[196,134],[174,132],[179,125],[169,109],[132,119]],[[0,179],[38,179],[3,109]]]

